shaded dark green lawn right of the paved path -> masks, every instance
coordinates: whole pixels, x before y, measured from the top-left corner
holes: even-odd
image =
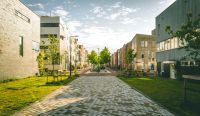
[[[119,78],[176,115],[200,116],[200,93],[187,92],[188,102],[184,103],[183,81],[160,78]],[[200,83],[188,83],[188,86],[200,89]]]

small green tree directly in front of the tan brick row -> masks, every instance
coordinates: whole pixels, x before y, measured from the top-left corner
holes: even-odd
[[[134,58],[137,56],[137,54],[135,53],[134,49],[128,49],[126,51],[126,64],[127,64],[127,67],[129,67],[129,69],[132,69],[132,62],[134,60]]]

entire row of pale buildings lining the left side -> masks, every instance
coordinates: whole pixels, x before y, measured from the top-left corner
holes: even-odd
[[[72,65],[87,65],[87,50],[70,35],[66,23],[59,16],[38,16],[19,0],[0,2],[0,80],[32,76],[38,73],[37,56],[41,49],[48,49],[48,36],[59,39],[59,54],[64,58],[56,70],[69,69],[71,50]],[[45,68],[52,69],[52,62],[45,61]]]

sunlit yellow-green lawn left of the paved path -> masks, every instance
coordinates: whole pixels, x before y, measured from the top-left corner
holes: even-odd
[[[67,79],[60,78],[56,84],[52,84],[52,77],[46,84],[46,77],[30,77],[0,83],[0,116],[12,115],[25,106],[40,100],[52,91],[71,82],[75,77]]]

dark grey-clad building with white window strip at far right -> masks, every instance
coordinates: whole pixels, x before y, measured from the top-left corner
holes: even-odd
[[[182,59],[187,52],[179,49],[182,44],[178,38],[172,38],[166,31],[170,26],[173,31],[186,23],[187,14],[192,13],[193,20],[200,14],[199,0],[176,0],[171,6],[156,17],[156,43],[158,73],[163,77],[177,78],[175,65],[180,61],[185,74],[193,72],[195,62],[191,59]],[[193,70],[193,71],[191,71]],[[177,73],[176,73],[177,72]],[[196,71],[196,73],[198,73]]]

